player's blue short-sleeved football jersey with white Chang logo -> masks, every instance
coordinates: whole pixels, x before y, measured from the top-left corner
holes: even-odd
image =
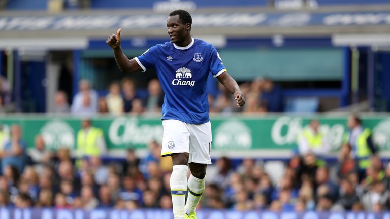
[[[193,39],[186,47],[172,42],[158,44],[135,60],[143,71],[154,68],[165,98],[163,119],[176,119],[192,124],[210,120],[207,78],[226,71],[215,47]]]

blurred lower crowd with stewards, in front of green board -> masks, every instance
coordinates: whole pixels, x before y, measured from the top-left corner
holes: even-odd
[[[118,86],[118,85],[115,85]],[[117,88],[116,88],[117,89]],[[0,207],[171,209],[172,160],[149,143],[147,155],[129,147],[125,159],[102,160],[105,142],[91,121],[82,120],[77,148],[50,151],[42,136],[27,151],[18,125],[0,152]],[[297,139],[298,150],[275,177],[260,159],[221,157],[209,165],[200,208],[271,211],[381,211],[390,209],[390,165],[384,165],[368,129],[356,116],[337,163],[317,150],[326,142],[313,120]],[[300,145],[303,144],[303,145]]]

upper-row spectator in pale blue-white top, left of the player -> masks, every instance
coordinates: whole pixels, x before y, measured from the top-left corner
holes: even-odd
[[[79,92],[73,98],[71,111],[76,115],[91,115],[98,112],[98,93],[91,89],[88,80],[79,81]]]

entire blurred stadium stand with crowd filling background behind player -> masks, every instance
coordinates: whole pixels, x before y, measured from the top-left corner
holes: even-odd
[[[237,109],[208,79],[199,218],[390,218],[387,0],[0,0],[0,218],[172,217],[164,95],[153,70],[123,75],[105,39],[121,27],[142,54],[176,8],[247,98]],[[107,152],[77,153],[82,121]]]

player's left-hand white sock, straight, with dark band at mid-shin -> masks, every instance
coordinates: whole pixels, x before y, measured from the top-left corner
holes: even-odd
[[[184,219],[185,195],[187,193],[187,165],[174,165],[171,175],[171,196],[173,216],[175,219]]]

